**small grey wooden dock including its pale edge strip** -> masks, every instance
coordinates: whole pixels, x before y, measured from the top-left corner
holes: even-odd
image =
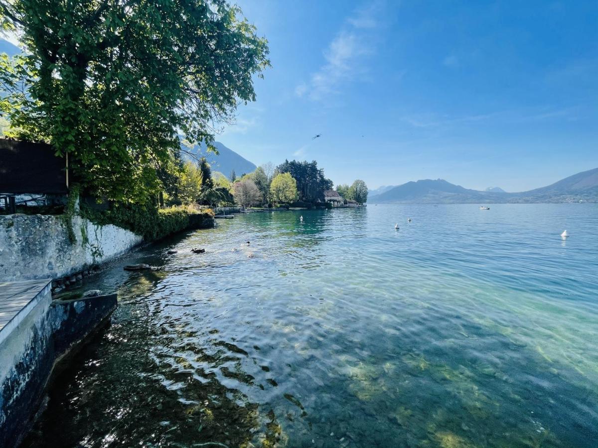
[[[51,283],[51,278],[0,282],[0,343],[41,300],[50,297]]]

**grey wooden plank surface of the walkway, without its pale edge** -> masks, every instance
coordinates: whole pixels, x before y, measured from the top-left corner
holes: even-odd
[[[0,282],[0,332],[21,312],[26,314],[29,303],[51,281],[51,278],[45,278],[44,280]]]

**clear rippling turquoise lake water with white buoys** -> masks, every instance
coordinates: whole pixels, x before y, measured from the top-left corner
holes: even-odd
[[[596,446],[595,204],[253,213],[94,287],[29,446]]]

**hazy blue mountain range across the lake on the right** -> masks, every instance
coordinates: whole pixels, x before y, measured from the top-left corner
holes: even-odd
[[[574,174],[542,188],[520,193],[477,191],[454,185],[443,179],[418,180],[396,186],[368,198],[368,202],[598,202],[598,168]]]

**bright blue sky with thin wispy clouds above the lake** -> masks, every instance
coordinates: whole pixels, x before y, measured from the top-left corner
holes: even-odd
[[[217,140],[256,164],[507,191],[598,167],[596,1],[238,4],[273,67]]]

